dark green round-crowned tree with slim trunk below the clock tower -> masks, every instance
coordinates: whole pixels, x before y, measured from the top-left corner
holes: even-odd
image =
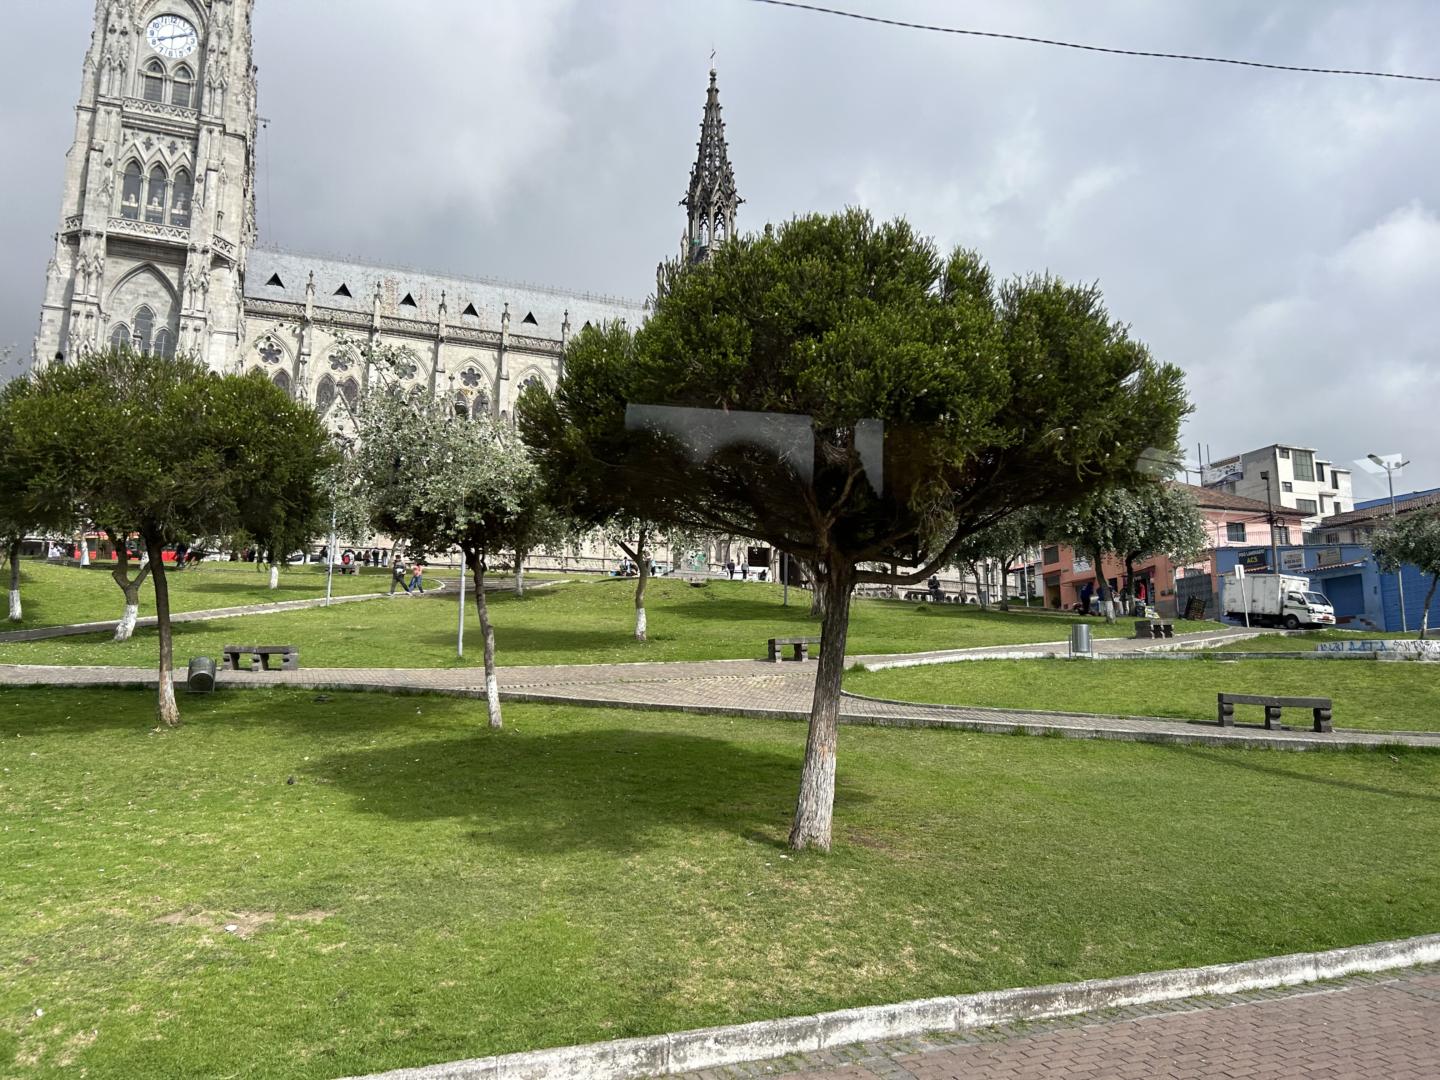
[[[32,504],[45,517],[84,511],[117,550],[131,534],[141,539],[160,636],[157,716],[179,724],[161,553],[284,513],[272,477],[312,487],[328,461],[324,431],[310,408],[264,376],[216,376],[186,357],[109,350],[46,367],[32,382],[14,423]],[[117,583],[130,609],[138,579]]]

